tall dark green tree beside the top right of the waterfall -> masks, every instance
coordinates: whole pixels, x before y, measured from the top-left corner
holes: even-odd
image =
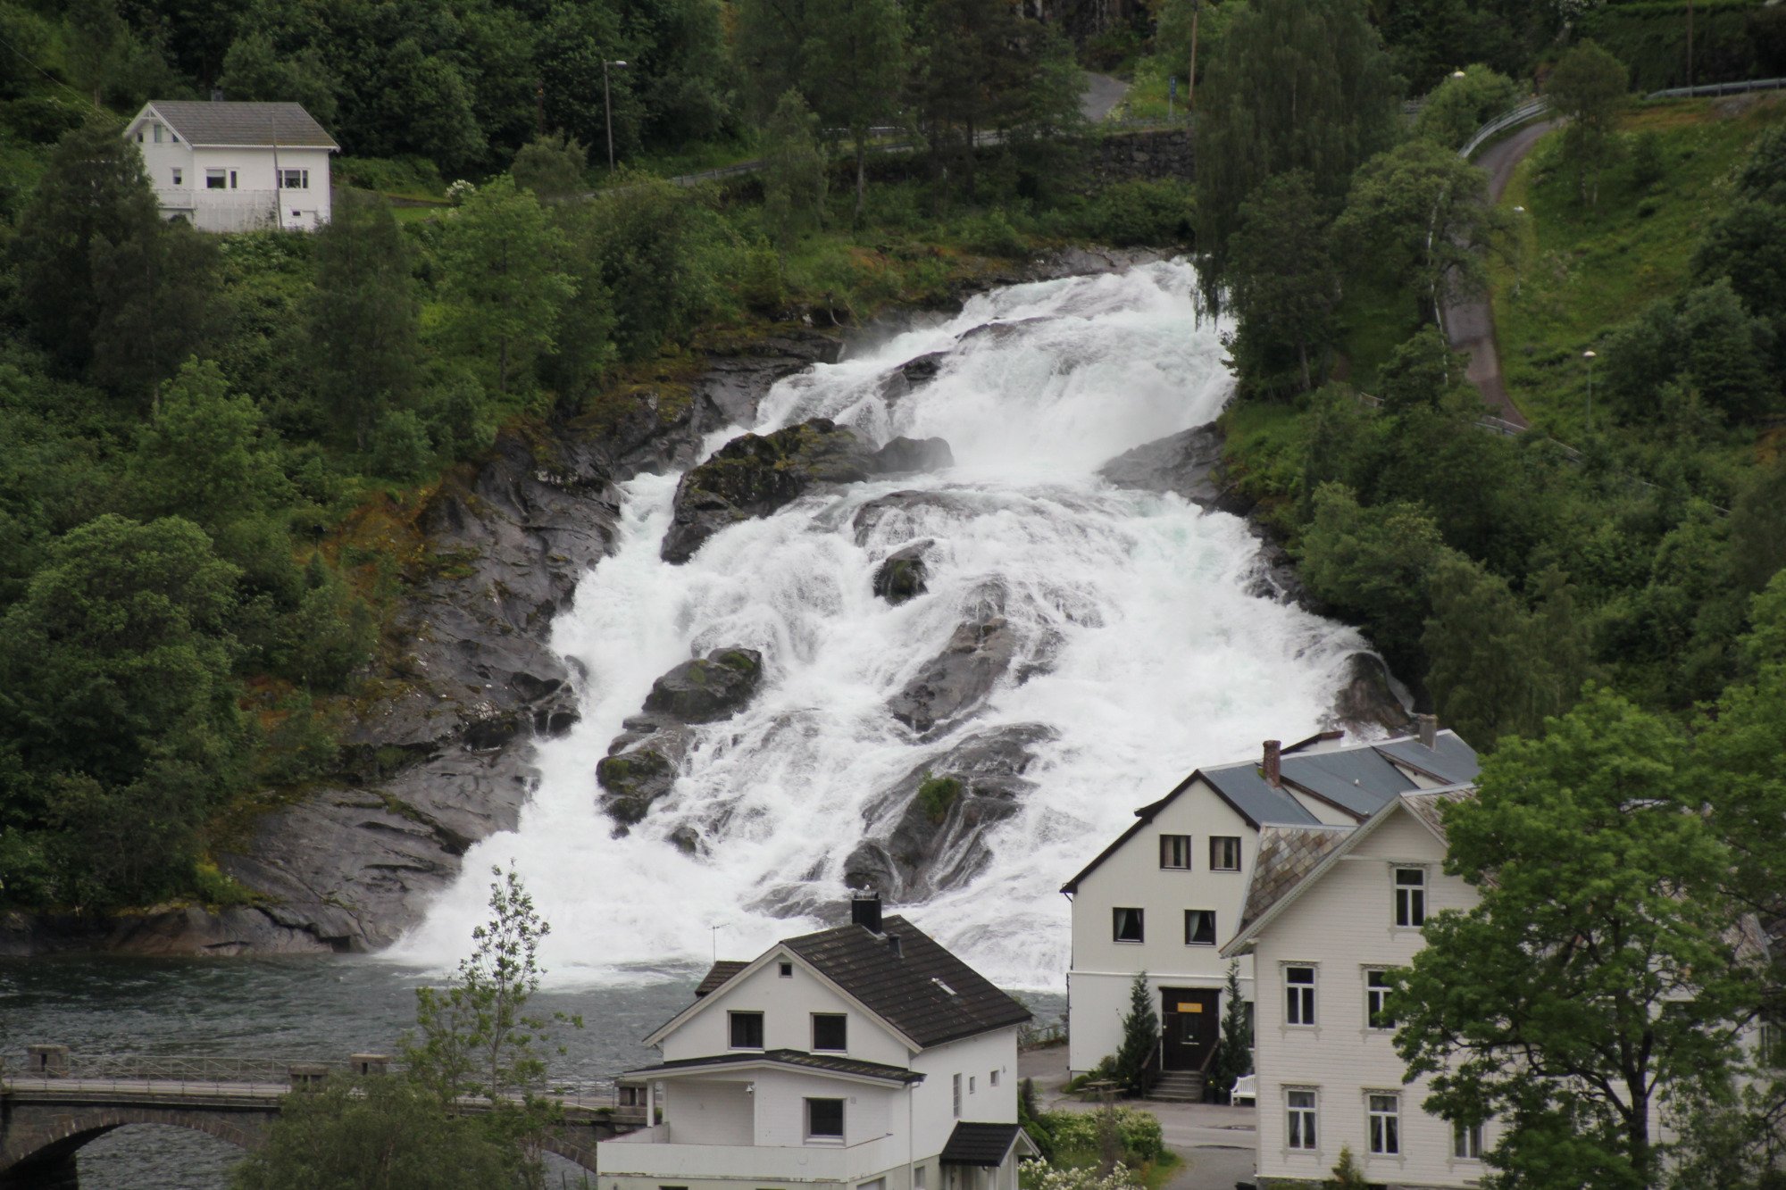
[[[1359,0],[1247,5],[1198,98],[1197,252],[1211,306],[1227,284],[1229,236],[1254,193],[1300,170],[1323,205],[1338,204],[1352,170],[1395,139],[1397,98]]]

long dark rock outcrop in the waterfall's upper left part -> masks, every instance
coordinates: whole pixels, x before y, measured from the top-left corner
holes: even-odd
[[[895,438],[875,450],[855,431],[813,418],[772,434],[741,434],[677,482],[675,511],[659,556],[686,563],[707,538],[741,520],[770,516],[816,484],[954,466],[941,438]]]

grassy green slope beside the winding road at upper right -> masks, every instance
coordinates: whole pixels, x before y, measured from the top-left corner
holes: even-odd
[[[1518,166],[1502,197],[1502,207],[1523,207],[1516,248],[1493,266],[1491,282],[1507,391],[1534,425],[1563,440],[1582,436],[1582,352],[1690,286],[1693,248],[1707,216],[1729,202],[1732,168],[1777,123],[1786,123],[1781,95],[1638,107],[1625,120],[1627,152],[1602,175],[1593,205],[1561,159],[1559,132]],[[1648,186],[1629,152],[1645,132],[1656,134],[1663,166]]]

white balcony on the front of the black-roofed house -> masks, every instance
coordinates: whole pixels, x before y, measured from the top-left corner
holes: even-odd
[[[657,1181],[861,1181],[906,1160],[893,1136],[857,1145],[679,1145],[670,1126],[643,1127],[598,1145],[602,1177]]]

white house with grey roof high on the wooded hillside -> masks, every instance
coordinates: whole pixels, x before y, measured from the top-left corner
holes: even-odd
[[[163,218],[198,230],[314,230],[329,222],[329,154],[298,104],[150,100],[125,127]]]

